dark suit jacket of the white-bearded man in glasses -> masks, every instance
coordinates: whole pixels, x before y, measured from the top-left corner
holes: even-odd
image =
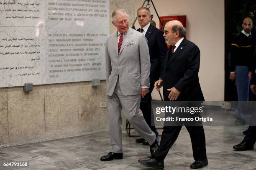
[[[171,55],[167,51],[164,62],[164,100],[169,100],[167,89],[175,87],[181,93],[177,100],[203,101],[204,96],[199,84],[200,50],[193,42],[184,38],[177,50]],[[169,56],[170,55],[170,56]],[[169,60],[168,60],[169,58]]]

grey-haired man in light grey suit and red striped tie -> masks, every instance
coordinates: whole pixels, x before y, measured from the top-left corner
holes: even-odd
[[[100,160],[123,158],[121,110],[136,132],[150,144],[153,155],[158,148],[156,135],[139,113],[141,97],[148,92],[150,57],[146,37],[129,28],[128,15],[123,9],[112,13],[117,32],[106,42],[106,83],[108,95],[111,150]]]

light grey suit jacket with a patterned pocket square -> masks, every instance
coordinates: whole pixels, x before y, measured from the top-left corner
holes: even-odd
[[[146,37],[129,28],[118,54],[118,32],[106,42],[107,95],[113,95],[119,77],[123,95],[140,95],[141,86],[149,86],[150,57]]]

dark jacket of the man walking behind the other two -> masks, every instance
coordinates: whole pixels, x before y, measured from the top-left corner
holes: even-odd
[[[137,31],[140,31],[139,28]],[[154,86],[154,82],[159,80],[164,73],[164,59],[167,52],[167,45],[165,43],[163,32],[149,25],[145,34],[148,40],[148,49],[150,55],[150,85]]]

